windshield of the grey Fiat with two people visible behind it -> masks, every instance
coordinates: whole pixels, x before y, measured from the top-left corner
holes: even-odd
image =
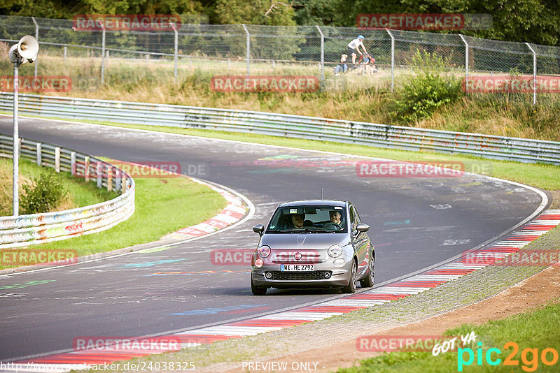
[[[267,233],[346,233],[346,209],[340,206],[279,207]]]

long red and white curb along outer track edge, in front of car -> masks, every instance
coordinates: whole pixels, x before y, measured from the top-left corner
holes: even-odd
[[[503,253],[504,256],[510,255],[519,251],[522,247],[536,240],[538,237],[545,235],[559,224],[560,210],[547,210],[537,219],[521,226],[517,231],[508,234],[502,240],[494,242],[488,247],[479,249],[476,252]],[[293,309],[287,312],[235,321],[220,326],[189,330],[188,333],[181,332],[168,335],[167,337],[178,337],[181,339],[181,347],[188,348],[200,346],[201,344],[210,344],[227,339],[242,338],[249,335],[281,330],[283,328],[300,325],[301,323],[328,319],[331,316],[346,314],[356,309],[374,307],[386,302],[391,302],[392,300],[419,294],[430,288],[435,288],[441,284],[468,275],[488,265],[491,265],[491,263],[463,263],[463,260],[458,258],[450,263],[445,263],[418,275],[395,281],[392,284],[363,293],[348,295],[337,300],[330,300],[318,305]],[[34,358],[32,361],[33,363],[43,365],[43,370],[41,370],[41,372],[66,372],[71,369],[83,369],[85,365],[99,365],[120,360],[130,360],[132,358],[151,354],[152,353],[149,351],[99,352],[95,350],[85,350],[43,356],[41,358]],[[25,365],[28,362],[20,363]],[[45,370],[45,364],[49,364],[52,368]],[[32,370],[29,370],[29,372],[31,371]]]

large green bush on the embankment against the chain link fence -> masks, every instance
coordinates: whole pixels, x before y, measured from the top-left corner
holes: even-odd
[[[403,85],[400,98],[395,99],[396,115],[405,122],[416,122],[445,103],[453,103],[463,96],[461,79],[441,71],[449,64],[442,57],[416,50],[412,64],[419,66],[419,73]]]

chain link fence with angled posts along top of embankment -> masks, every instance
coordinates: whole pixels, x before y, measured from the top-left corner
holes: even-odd
[[[358,34],[365,36],[367,51],[378,68],[366,84],[386,89],[394,89],[398,78],[419,67],[412,59],[416,50],[437,54],[444,59],[446,72],[466,78],[533,76],[533,103],[537,98],[536,76],[560,74],[560,47],[461,34],[248,24],[179,24],[170,31],[77,31],[72,20],[0,15],[0,53],[4,56],[10,45],[27,34],[36,36],[41,46],[34,75],[38,71],[54,75],[54,64],[59,66],[54,69],[57,73],[71,71],[68,75],[73,89],[82,90],[126,80],[130,66],[156,66],[159,74],[174,78],[195,71],[211,75],[316,75],[325,88],[337,79],[333,68]],[[50,68],[43,70],[41,66],[48,63]],[[66,66],[72,64],[77,66],[74,70]],[[356,75],[365,72],[363,67],[350,67]],[[10,74],[7,58],[1,59],[0,71]]]

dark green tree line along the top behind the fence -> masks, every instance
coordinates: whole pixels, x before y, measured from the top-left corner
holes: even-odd
[[[178,14],[211,24],[356,26],[361,13],[485,13],[479,38],[560,45],[559,0],[3,0],[0,14],[71,19],[76,14]],[[444,32],[444,31],[439,31]],[[458,32],[458,31],[447,31]]]

